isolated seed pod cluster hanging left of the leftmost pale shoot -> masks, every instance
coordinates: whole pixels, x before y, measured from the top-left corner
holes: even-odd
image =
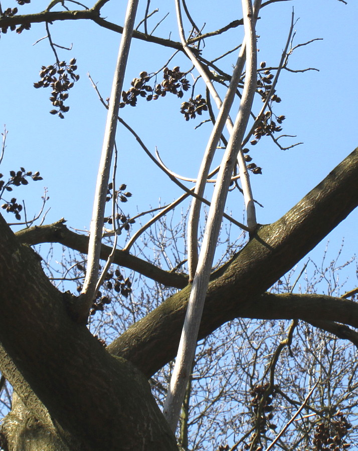
[[[65,61],[58,61],[47,67],[42,66],[40,80],[34,83],[35,88],[52,88],[50,101],[56,109],[51,110],[50,113],[57,114],[61,119],[64,118],[63,113],[67,113],[70,109],[69,106],[64,105],[64,101],[68,98],[68,91],[80,78],[78,74],[75,74],[76,70],[75,58],[72,58],[68,65]]]

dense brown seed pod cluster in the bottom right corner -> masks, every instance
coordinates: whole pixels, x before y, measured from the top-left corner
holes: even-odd
[[[312,451],[343,451],[350,447],[350,443],[344,440],[344,436],[351,428],[342,413],[338,413],[334,419],[321,422],[316,425],[313,436]]]

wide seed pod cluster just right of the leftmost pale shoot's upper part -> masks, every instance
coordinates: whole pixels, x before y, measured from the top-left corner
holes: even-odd
[[[138,78],[133,78],[131,88],[122,92],[122,102],[119,104],[119,107],[124,108],[125,105],[136,106],[138,96],[146,98],[148,102],[157,100],[159,97],[165,97],[167,92],[182,98],[184,96],[183,91],[188,91],[190,88],[189,81],[178,66],[173,69],[165,67],[163,69],[163,81],[160,84],[149,85],[148,82],[151,77],[153,75],[150,76],[143,71]]]

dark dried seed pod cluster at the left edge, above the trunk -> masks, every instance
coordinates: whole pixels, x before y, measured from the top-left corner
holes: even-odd
[[[0,174],[0,179],[3,178],[3,174]],[[14,213],[16,219],[21,219],[20,212],[23,209],[23,206],[20,203],[17,203],[16,197],[13,197],[11,200],[6,200],[3,198],[3,195],[6,191],[13,191],[13,186],[21,186],[21,185],[27,185],[29,183],[28,178],[31,178],[34,181],[42,180],[42,177],[40,177],[40,172],[35,172],[34,174],[32,171],[26,172],[23,167],[20,168],[20,171],[10,171],[10,177],[7,182],[4,180],[0,180],[0,199],[5,200],[5,203],[3,203],[2,208],[6,210],[8,213]]]

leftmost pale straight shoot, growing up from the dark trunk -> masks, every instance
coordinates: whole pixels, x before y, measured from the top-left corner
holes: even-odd
[[[108,179],[111,168],[111,160],[115,133],[117,128],[117,116],[121,100],[124,74],[129,54],[130,43],[133,34],[134,21],[138,6],[138,0],[130,0],[124,22],[123,35],[119,47],[117,66],[113,78],[112,92],[110,96],[106,130],[103,140],[101,161],[98,170],[97,185],[95,191],[93,213],[90,227],[90,239],[88,246],[88,264],[86,278],[81,293],[81,319],[86,319],[92,306],[94,293],[98,279],[101,240],[103,232],[103,218],[106,204]]]

